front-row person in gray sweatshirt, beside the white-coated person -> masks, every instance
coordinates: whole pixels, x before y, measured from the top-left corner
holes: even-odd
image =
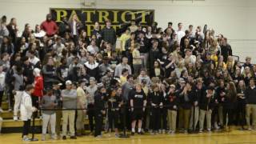
[[[46,89],[46,95],[42,97],[42,109],[55,109],[58,105],[56,97],[53,94],[53,89],[48,87]],[[42,141],[46,140],[46,130],[50,123],[50,131],[52,139],[56,139],[55,127],[56,127],[56,111],[54,110],[42,110]]]

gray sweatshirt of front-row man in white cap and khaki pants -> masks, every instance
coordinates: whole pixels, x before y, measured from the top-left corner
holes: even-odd
[[[64,109],[76,109],[77,108],[77,90],[62,90],[62,98]]]

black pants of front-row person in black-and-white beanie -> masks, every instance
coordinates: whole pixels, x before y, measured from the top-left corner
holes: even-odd
[[[100,110],[95,110],[95,133],[94,137],[102,134],[103,115]]]

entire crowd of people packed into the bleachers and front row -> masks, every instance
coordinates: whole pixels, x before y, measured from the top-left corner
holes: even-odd
[[[213,29],[131,20],[119,37],[106,20],[88,36],[76,14],[60,23],[47,14],[23,31],[18,18],[7,20],[0,26],[0,112],[5,96],[14,120],[24,122],[25,141],[32,117],[42,117],[42,140],[48,125],[54,139],[84,135],[85,118],[98,138],[103,129],[118,137],[124,127],[132,135],[256,128],[256,65],[235,59]]]

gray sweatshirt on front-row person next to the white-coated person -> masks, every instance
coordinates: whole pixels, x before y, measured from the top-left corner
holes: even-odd
[[[54,105],[53,105],[54,104]],[[54,109],[57,106],[56,97],[54,95],[44,95],[42,97],[42,109]],[[54,110],[42,110],[43,114],[54,114]]]

